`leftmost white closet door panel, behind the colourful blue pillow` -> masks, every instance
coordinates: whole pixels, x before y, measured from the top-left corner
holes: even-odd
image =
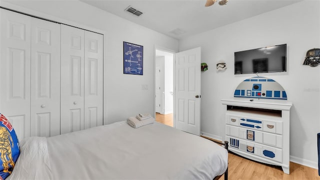
[[[0,112],[30,136],[30,17],[0,9]]]

